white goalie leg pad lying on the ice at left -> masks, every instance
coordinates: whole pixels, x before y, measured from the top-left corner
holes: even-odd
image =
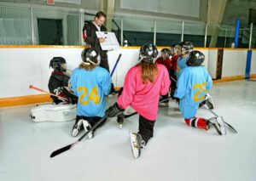
[[[77,105],[38,105],[31,110],[33,122],[68,122],[77,116]]]

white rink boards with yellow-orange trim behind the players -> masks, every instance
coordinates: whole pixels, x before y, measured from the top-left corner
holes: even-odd
[[[45,46],[45,45],[0,45],[0,107],[28,105],[50,101],[48,95],[36,93],[29,85],[48,90],[49,60],[62,56],[67,60],[67,69],[73,70],[81,61],[81,51],[85,46]],[[118,58],[119,61],[112,80],[116,88],[123,86],[126,72],[137,63],[140,47],[122,47],[108,52],[110,71]],[[161,48],[166,47],[158,47]],[[195,48],[206,56],[204,65],[213,79],[216,78],[218,50],[223,49],[221,79],[214,82],[228,82],[245,79],[247,48]],[[250,77],[256,78],[256,49],[252,50]]]

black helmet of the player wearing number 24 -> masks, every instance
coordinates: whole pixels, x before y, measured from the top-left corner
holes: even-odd
[[[81,54],[84,63],[91,65],[100,65],[101,56],[95,48],[85,48]]]

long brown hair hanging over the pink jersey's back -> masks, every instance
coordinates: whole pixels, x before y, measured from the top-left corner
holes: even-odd
[[[158,74],[157,65],[146,61],[141,61],[137,64],[142,68],[143,83],[154,82],[155,76]]]

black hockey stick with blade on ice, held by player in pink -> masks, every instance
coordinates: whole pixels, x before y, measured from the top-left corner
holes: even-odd
[[[63,153],[64,151],[70,150],[71,148],[73,148],[74,145],[78,144],[79,141],[81,141],[82,139],[84,139],[85,136],[87,136],[92,130],[94,130],[101,122],[103,122],[106,118],[108,117],[108,115],[102,117],[101,120],[99,120],[99,122],[97,122],[95,125],[93,125],[93,127],[90,128],[90,130],[88,130],[86,133],[84,133],[83,136],[81,136],[80,139],[78,139],[76,142],[74,142],[73,144],[68,144],[67,146],[62,147],[61,149],[55,150],[54,152],[52,152],[50,154],[49,157],[55,157],[60,155],[61,153]]]

